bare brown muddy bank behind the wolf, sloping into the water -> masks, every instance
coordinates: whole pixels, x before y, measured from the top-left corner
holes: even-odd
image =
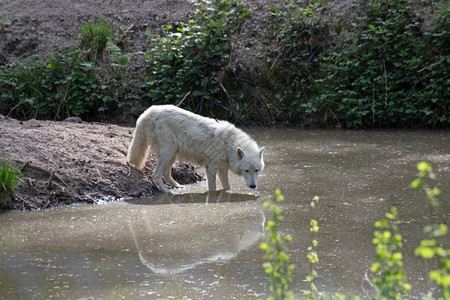
[[[9,205],[34,209],[154,194],[154,156],[142,172],[126,163],[132,134],[133,128],[77,119],[22,122],[0,115],[1,155],[23,174]],[[202,179],[181,162],[172,172],[184,184]]]

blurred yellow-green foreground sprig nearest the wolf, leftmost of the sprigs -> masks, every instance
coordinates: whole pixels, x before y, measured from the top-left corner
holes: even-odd
[[[282,236],[278,232],[278,223],[283,220],[283,215],[279,204],[284,201],[284,197],[279,189],[275,190],[274,200],[264,202],[265,207],[270,208],[270,217],[267,222],[266,231],[270,232],[270,237],[259,247],[265,251],[263,267],[270,280],[271,295],[269,299],[294,299],[294,294],[290,290],[292,282],[292,272],[295,266],[288,264],[289,254],[287,243],[292,240],[290,235]]]

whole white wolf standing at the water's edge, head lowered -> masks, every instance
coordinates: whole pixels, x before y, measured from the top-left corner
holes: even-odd
[[[216,174],[224,189],[231,188],[228,170],[243,175],[248,187],[256,188],[258,173],[264,168],[263,148],[245,132],[226,121],[196,115],[173,105],[154,105],[137,120],[128,149],[128,163],[141,169],[148,149],[156,154],[153,179],[163,192],[169,190],[162,177],[174,187],[171,175],[176,158],[204,166],[208,190],[216,190]]]

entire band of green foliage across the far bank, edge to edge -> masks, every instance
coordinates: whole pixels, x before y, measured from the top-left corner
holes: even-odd
[[[247,38],[241,33],[252,32],[244,2],[194,3],[187,22],[153,36],[144,64],[132,65],[114,43],[124,32],[88,22],[78,49],[0,66],[1,100],[22,119],[102,119],[124,105],[139,112],[171,103],[264,124],[435,128],[450,122],[444,2],[430,4],[432,20],[425,23],[408,0],[361,1],[351,25],[330,10],[330,1],[269,4],[258,58],[233,55]]]

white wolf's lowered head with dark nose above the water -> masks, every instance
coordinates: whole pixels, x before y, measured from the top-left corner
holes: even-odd
[[[237,157],[239,159],[239,175],[244,176],[245,183],[249,188],[258,186],[258,174],[264,169],[263,159],[264,147],[257,151],[244,152],[241,147],[237,148]]]

